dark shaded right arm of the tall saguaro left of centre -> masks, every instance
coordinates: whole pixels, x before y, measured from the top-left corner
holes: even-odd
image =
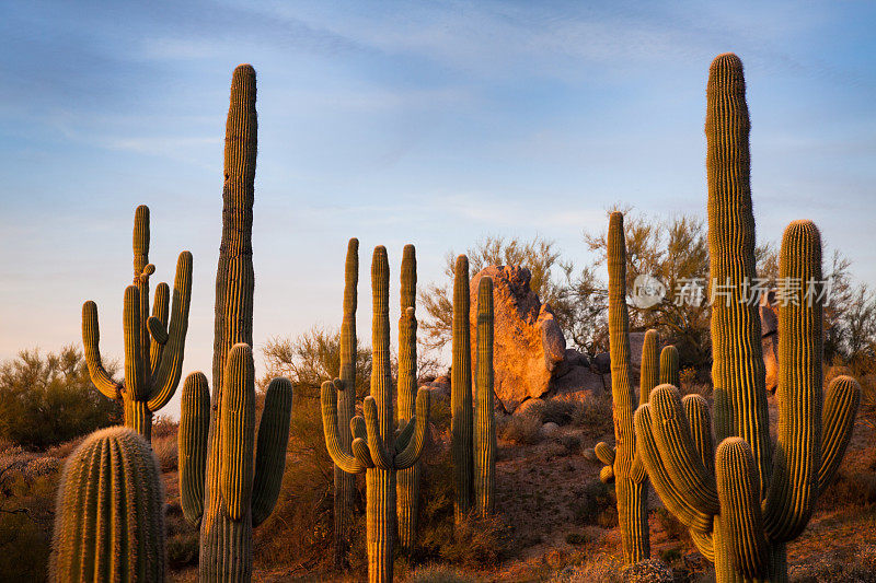
[[[292,413],[292,383],[274,378],[265,395],[265,410],[258,424],[253,478],[253,526],[258,526],[274,511],[286,468],[289,443],[289,418]]]

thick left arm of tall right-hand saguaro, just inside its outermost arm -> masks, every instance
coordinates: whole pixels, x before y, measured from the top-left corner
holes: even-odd
[[[654,435],[660,456],[681,494],[703,514],[717,514],[715,478],[706,471],[691,436],[678,390],[660,385],[650,394]]]

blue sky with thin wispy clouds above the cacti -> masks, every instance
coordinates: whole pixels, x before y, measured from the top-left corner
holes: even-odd
[[[210,368],[240,62],[258,74],[256,348],[339,323],[350,236],[365,294],[377,244],[396,273],[416,244],[427,283],[486,234],[585,261],[583,231],[614,203],[704,215],[705,81],[728,50],[746,65],[759,241],[812,219],[876,283],[876,4],[729,4],[4,3],[0,358],[80,342],[87,299],[120,352],[147,203],[158,278],[194,254],[184,370]]]

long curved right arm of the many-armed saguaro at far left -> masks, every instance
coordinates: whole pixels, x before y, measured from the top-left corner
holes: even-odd
[[[185,335],[188,331],[188,308],[192,301],[192,254],[184,250],[176,261],[176,279],[173,282],[173,308],[168,342],[161,352],[161,362],[153,378],[153,393],[149,410],[164,407],[180,384],[183,373]]]

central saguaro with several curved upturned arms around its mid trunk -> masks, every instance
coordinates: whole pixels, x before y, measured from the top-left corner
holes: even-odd
[[[404,287],[402,303],[412,301],[404,295],[412,293],[413,249],[405,253],[408,258],[408,283]],[[348,474],[366,475],[366,547],[368,553],[368,578],[372,582],[392,581],[392,549],[396,533],[396,471],[413,467],[419,459],[425,444],[429,392],[419,389],[416,409],[406,424],[394,431],[392,412],[392,378],[390,375],[390,319],[389,319],[389,260],[387,249],[374,248],[371,263],[371,290],[373,299],[371,323],[371,395],[365,398],[365,417],[356,416],[349,424],[353,441],[346,448],[338,431],[337,390],[350,390],[335,380],[322,385],[322,420],[325,444],[334,463]],[[407,306],[402,314],[400,328],[405,330],[408,362],[405,374],[416,377],[411,346],[416,341],[414,307]],[[401,372],[400,372],[401,375]],[[402,383],[408,381],[400,380]],[[346,430],[346,428],[344,428]],[[408,500],[410,502],[410,500]],[[408,512],[408,511],[405,511]]]

